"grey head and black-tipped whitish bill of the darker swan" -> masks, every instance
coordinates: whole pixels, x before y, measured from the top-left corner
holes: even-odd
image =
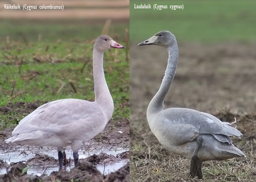
[[[139,43],[138,46],[157,45],[163,47],[170,47],[176,43],[175,36],[169,31],[161,31],[155,34],[153,37]]]

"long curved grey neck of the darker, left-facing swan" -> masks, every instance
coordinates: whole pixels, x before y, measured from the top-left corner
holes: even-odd
[[[163,99],[169,91],[170,85],[173,81],[176,68],[178,65],[178,44],[175,43],[167,48],[169,53],[167,68],[165,71],[165,76],[163,77],[162,84],[147,108],[147,116],[151,114],[156,114],[163,110]]]

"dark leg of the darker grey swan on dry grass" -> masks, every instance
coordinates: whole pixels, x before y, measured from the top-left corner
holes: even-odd
[[[199,135],[198,137],[196,137],[196,149],[194,150],[191,157],[189,176],[191,176],[192,178],[195,178],[196,176],[199,179],[203,178],[202,162],[197,157],[197,153],[199,151],[199,148],[202,146],[202,143],[203,143],[203,137]]]

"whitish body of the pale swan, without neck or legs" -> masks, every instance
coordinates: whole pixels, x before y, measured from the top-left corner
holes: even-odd
[[[101,132],[110,117],[106,118],[95,102],[56,100],[38,107],[22,119],[12,132],[15,138],[9,138],[7,142],[12,139],[21,144],[54,147],[70,145],[74,140],[85,142]],[[72,130],[74,134],[71,134]]]

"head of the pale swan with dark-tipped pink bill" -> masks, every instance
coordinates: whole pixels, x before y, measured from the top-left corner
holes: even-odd
[[[101,35],[99,36],[94,43],[94,48],[99,51],[106,51],[111,48],[125,48],[121,44],[116,43],[110,36]]]

